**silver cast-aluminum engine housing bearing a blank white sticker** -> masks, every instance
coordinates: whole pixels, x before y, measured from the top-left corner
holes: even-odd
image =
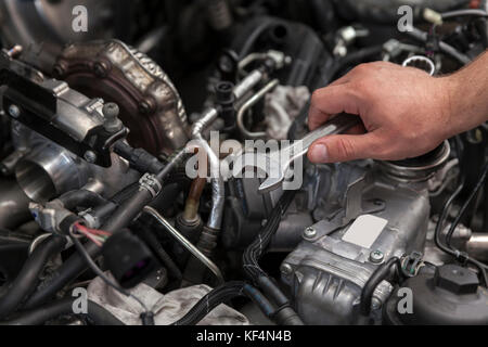
[[[411,182],[403,179],[409,175],[393,177],[384,165],[363,162],[309,174],[317,180],[308,191],[320,221],[304,231],[303,242],[282,264],[282,280],[305,323],[368,323],[358,308],[372,273],[390,257],[424,249],[429,176]],[[376,287],[375,322],[391,290],[386,281]]]

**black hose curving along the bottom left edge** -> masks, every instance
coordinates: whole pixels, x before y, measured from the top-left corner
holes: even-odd
[[[73,310],[75,300],[76,298],[66,298],[53,301],[38,309],[21,312],[10,321],[0,322],[0,325],[41,325],[61,316],[75,314]],[[91,300],[88,300],[87,313],[76,316],[88,319],[94,325],[124,325],[111,312]]]

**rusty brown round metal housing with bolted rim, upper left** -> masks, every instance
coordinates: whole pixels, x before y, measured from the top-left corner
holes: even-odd
[[[187,115],[175,86],[155,62],[121,41],[68,46],[53,72],[87,95],[116,102],[132,146],[158,155],[187,144]]]

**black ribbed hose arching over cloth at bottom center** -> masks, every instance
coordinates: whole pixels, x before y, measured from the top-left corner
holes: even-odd
[[[172,323],[172,325],[195,325],[217,306],[239,296],[252,298],[267,317],[271,317],[274,313],[274,309],[268,299],[252,285],[245,282],[229,282],[205,295],[183,318]]]

